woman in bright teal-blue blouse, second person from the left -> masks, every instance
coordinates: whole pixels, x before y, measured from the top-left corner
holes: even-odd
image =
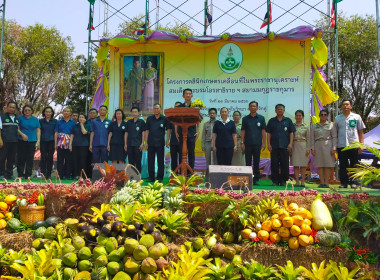
[[[34,153],[36,148],[40,147],[41,125],[32,114],[33,108],[25,105],[22,108],[22,116],[18,118],[21,132],[28,136],[27,141],[20,137],[17,147],[17,173],[25,179],[32,176]]]

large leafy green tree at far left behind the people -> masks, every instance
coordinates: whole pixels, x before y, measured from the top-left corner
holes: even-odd
[[[5,24],[0,106],[9,100],[30,103],[36,112],[64,104],[73,70],[73,46],[54,27]]]

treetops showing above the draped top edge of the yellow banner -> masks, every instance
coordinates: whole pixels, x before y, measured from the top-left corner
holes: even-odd
[[[145,16],[142,14],[139,14],[138,16],[134,17],[131,21],[123,22],[119,25],[119,32],[120,34],[129,35],[129,36],[135,36],[133,32],[137,28],[141,28],[145,23]],[[188,36],[194,36],[194,29],[191,27],[191,25],[187,25],[181,22],[175,22],[174,25],[168,23],[166,25],[159,24],[158,30],[165,30],[170,31],[175,34],[186,34]],[[153,33],[155,30],[152,28],[152,26],[148,27],[147,33],[148,35]]]

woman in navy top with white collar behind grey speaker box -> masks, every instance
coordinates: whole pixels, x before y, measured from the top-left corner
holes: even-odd
[[[216,152],[219,165],[231,165],[232,156],[237,150],[236,126],[228,118],[228,109],[220,109],[221,121],[216,121],[213,127],[212,146]]]

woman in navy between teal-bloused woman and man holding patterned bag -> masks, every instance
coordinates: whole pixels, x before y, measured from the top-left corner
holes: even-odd
[[[42,110],[43,118],[40,119],[41,126],[41,161],[40,169],[41,173],[46,179],[50,179],[51,170],[53,168],[53,156],[55,151],[54,145],[54,129],[57,124],[57,120],[54,119],[54,110],[48,106]]]

